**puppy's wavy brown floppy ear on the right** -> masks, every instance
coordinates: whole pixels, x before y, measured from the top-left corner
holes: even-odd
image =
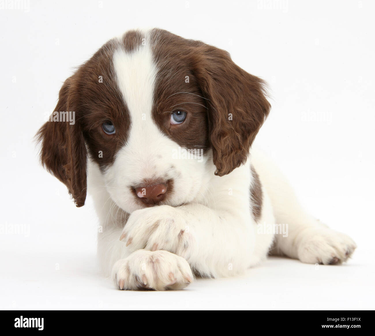
[[[228,52],[200,45],[193,71],[207,100],[215,175],[246,162],[255,136],[270,111],[265,83],[234,64]]]

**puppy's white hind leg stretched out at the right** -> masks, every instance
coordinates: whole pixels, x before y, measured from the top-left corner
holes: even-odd
[[[356,243],[346,234],[327,227],[306,214],[293,188],[271,160],[253,151],[252,164],[270,196],[277,224],[287,225],[288,235],[276,234],[272,254],[287,255],[304,263],[339,264],[353,254]]]

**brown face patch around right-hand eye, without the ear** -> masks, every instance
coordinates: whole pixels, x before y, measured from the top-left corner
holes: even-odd
[[[192,49],[186,39],[165,30],[151,31],[151,50],[158,73],[154,89],[153,119],[167,136],[183,148],[210,148],[206,99],[191,67]],[[182,124],[171,125],[174,111],[187,113]]]

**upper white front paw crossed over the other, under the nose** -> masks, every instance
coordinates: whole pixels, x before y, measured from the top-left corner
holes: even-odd
[[[168,205],[134,211],[126,222],[120,240],[131,251],[166,250],[187,257],[193,235],[179,209]]]

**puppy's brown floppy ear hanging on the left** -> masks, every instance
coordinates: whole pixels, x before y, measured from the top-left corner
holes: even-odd
[[[57,118],[50,118],[37,132],[41,142],[40,161],[48,172],[68,187],[76,206],[85,204],[87,152],[83,132],[77,118],[73,122],[61,120],[60,112],[71,112],[76,117],[75,94],[72,85],[74,76],[68,78],[62,86],[55,111]],[[55,112],[54,112],[55,113]],[[55,121],[51,121],[54,120]]]

